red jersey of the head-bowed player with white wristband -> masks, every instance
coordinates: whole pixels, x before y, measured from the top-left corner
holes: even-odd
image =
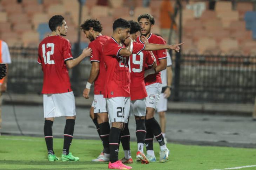
[[[106,68],[103,58],[103,45],[110,37],[105,35],[100,35],[95,38],[89,44],[89,48],[93,50],[92,55],[90,56],[90,61],[92,62],[99,62],[100,63],[100,71],[99,74],[94,81],[94,94],[104,94],[104,84],[105,84],[105,77],[106,77]]]

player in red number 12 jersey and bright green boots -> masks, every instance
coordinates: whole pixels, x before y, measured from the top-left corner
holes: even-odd
[[[54,15],[49,20],[52,33],[39,44],[38,61],[43,71],[43,128],[48,150],[48,160],[59,160],[53,150],[52,126],[55,117],[65,116],[64,144],[61,161],[78,161],[79,158],[69,152],[75,126],[75,97],[70,85],[68,69],[78,65],[83,58],[90,56],[90,48],[83,49],[82,54],[73,58],[69,41],[61,36],[67,35],[67,23],[61,15]]]

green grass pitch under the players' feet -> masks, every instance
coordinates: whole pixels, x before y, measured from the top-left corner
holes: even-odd
[[[63,139],[54,139],[54,151],[61,155]],[[131,143],[132,157],[135,160],[137,144]],[[159,159],[159,145],[154,143],[155,154]],[[209,170],[241,167],[256,164],[256,149],[187,146],[168,143],[169,161],[143,165],[133,163],[138,170]],[[0,136],[0,169],[107,169],[107,163],[91,162],[99,155],[102,144],[98,140],[74,139],[70,151],[80,157],[79,162],[48,162],[46,144],[43,137]],[[119,158],[123,157],[120,147]],[[244,170],[256,167],[243,168]]]

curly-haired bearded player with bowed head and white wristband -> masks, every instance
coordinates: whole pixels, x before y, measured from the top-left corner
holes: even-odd
[[[106,69],[103,59],[103,44],[110,37],[102,35],[102,25],[100,21],[96,19],[88,19],[83,24],[81,24],[81,29],[85,33],[85,37],[90,40],[89,48],[93,50],[90,56],[90,62],[92,63],[92,68],[90,71],[90,77],[86,84],[85,90],[83,90],[83,97],[89,98],[90,87],[94,82],[94,102],[92,104],[91,110],[93,110],[94,115],[91,115],[93,122],[95,123],[97,129],[100,130],[100,137],[104,147],[104,154],[100,154],[93,161],[95,162],[109,162],[109,132],[110,126],[108,123],[108,113],[106,99],[103,98],[104,94],[104,84]]]

